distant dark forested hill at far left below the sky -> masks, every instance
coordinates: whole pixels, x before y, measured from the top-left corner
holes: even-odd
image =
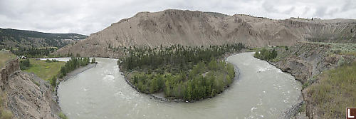
[[[19,48],[61,48],[78,39],[87,38],[76,33],[42,33],[16,29],[0,29],[0,49]]]

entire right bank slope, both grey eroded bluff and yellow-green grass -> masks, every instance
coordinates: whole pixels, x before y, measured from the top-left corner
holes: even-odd
[[[356,43],[300,42],[275,49],[278,55],[268,62],[303,84],[298,116],[345,118],[345,108],[355,106]]]

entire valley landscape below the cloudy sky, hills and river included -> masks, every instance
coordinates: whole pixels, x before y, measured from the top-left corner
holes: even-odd
[[[355,31],[179,9],[90,36],[0,29],[0,118],[345,118]]]

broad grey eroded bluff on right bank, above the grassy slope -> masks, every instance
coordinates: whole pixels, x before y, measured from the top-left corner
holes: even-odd
[[[319,43],[296,43],[288,51],[278,53],[278,61],[270,62],[291,73],[295,79],[305,83],[322,71],[333,68],[342,61],[353,61],[354,57],[337,55],[332,47]]]

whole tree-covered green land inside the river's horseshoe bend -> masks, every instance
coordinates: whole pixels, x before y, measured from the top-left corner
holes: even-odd
[[[123,48],[118,60],[125,80],[141,93],[163,93],[167,100],[194,101],[222,93],[235,71],[224,55],[246,48],[242,43],[221,46],[158,46]]]

